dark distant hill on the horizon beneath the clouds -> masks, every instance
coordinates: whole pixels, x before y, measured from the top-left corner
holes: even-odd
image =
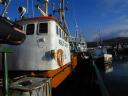
[[[115,45],[118,43],[128,44],[128,37],[117,37],[108,40],[103,40],[103,45]],[[88,47],[96,47],[97,42],[87,42]]]

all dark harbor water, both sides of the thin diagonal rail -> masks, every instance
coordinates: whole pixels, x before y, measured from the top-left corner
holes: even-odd
[[[100,71],[100,70],[99,70]],[[95,69],[90,61],[81,60],[74,73],[67,78],[57,89],[53,90],[56,96],[128,96],[128,57],[113,58],[113,71],[102,73],[105,91],[102,94],[97,82]]]

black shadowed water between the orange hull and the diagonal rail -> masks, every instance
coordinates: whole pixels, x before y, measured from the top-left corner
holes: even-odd
[[[89,61],[80,60],[74,72],[57,88],[53,96],[101,96],[95,72]]]

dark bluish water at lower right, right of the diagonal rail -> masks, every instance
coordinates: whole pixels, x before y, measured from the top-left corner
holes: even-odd
[[[104,74],[110,96],[128,96],[128,56],[113,58],[113,72]]]

